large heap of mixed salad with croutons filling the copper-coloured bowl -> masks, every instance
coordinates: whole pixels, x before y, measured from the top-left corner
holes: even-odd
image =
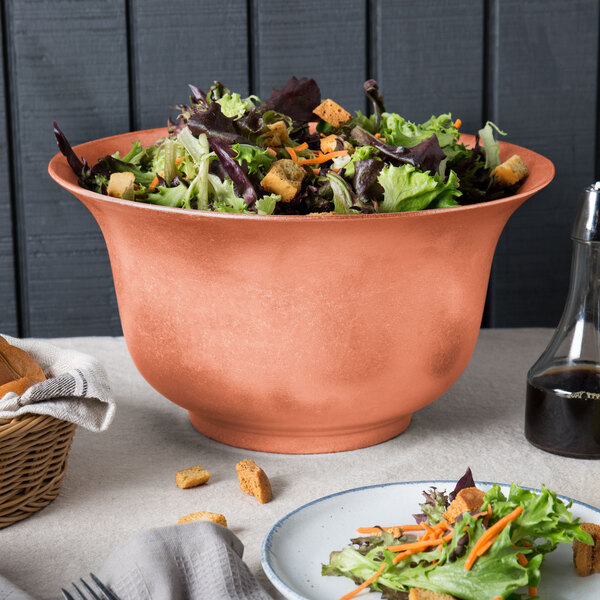
[[[468,148],[459,139],[460,120],[450,114],[417,124],[386,112],[374,80],[364,84],[370,116],[322,101],[307,78],[292,77],[264,102],[219,82],[206,93],[189,87],[190,104],[175,107],[168,135],[145,148],[135,142],[127,154],[95,165],[75,154],[55,122],[59,149],[79,184],[196,210],[353,214],[493,200],[515,193],[527,175],[522,161],[517,170],[500,164],[494,134],[503,132],[493,123]]]

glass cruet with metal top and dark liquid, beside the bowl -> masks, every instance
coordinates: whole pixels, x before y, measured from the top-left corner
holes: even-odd
[[[555,454],[600,458],[600,182],[585,189],[571,238],[564,312],[527,374],[525,437]]]

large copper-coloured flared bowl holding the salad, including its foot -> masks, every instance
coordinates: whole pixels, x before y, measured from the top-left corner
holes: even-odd
[[[75,147],[88,163],[164,129]],[[472,143],[472,136],[463,136]],[[515,196],[373,215],[258,216],[154,206],[52,178],[98,222],[123,333],[143,377],[220,442],[271,452],[361,448],[401,433],[460,376],[477,340],[506,221],[554,175]]]

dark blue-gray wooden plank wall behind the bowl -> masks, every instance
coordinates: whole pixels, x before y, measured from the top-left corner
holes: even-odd
[[[102,236],[46,168],[73,143],[156,127],[187,83],[268,96],[291,75],[367,109],[375,77],[411,120],[492,119],[557,178],[512,217],[484,325],[554,326],[578,195],[595,179],[596,0],[5,0],[0,88],[0,331],[110,335],[120,325]]]

